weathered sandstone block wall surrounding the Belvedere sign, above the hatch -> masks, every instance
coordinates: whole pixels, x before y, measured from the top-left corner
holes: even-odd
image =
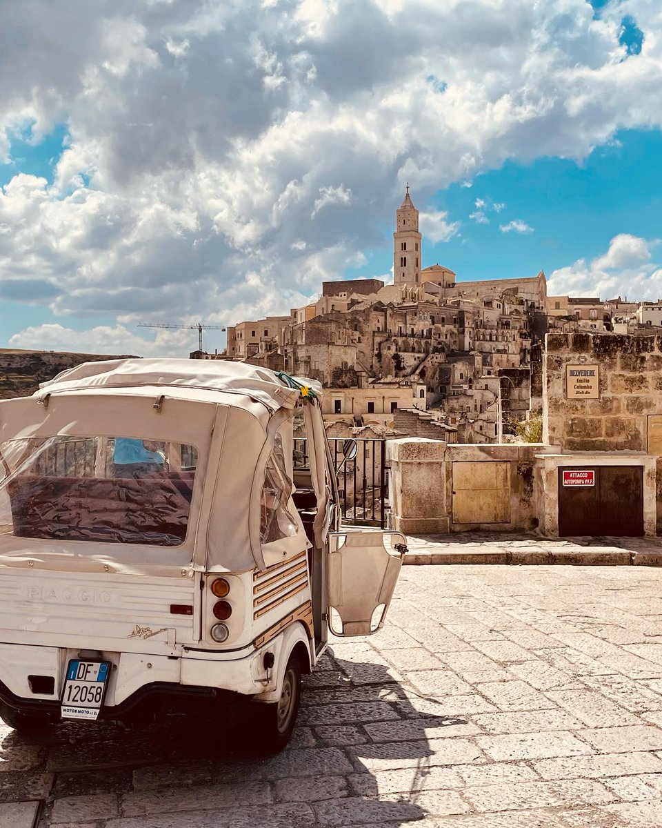
[[[548,334],[544,440],[566,451],[646,451],[648,416],[662,413],[662,337]],[[565,366],[597,364],[597,400],[568,400]]]

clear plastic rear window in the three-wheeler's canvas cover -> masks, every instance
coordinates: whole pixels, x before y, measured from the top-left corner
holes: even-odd
[[[0,533],[180,546],[198,452],[130,437],[55,436],[0,445]]]

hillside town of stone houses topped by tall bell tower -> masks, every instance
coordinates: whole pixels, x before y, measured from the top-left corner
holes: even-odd
[[[319,380],[329,434],[426,436],[449,443],[511,440],[540,418],[544,337],[549,333],[662,332],[660,302],[548,296],[530,278],[458,281],[422,267],[424,238],[409,186],[396,209],[394,283],[324,282],[290,315],[228,328],[221,354]],[[535,423],[533,431],[535,431]]]

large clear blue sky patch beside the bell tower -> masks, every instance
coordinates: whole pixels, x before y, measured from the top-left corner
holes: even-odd
[[[507,161],[498,170],[475,176],[471,186],[458,182],[439,190],[420,210],[448,213],[461,227],[453,238],[431,244],[423,239],[423,265],[438,262],[458,279],[549,276],[579,258],[596,258],[618,233],[662,238],[662,132],[619,132],[582,162],[540,158],[530,164]],[[486,201],[489,224],[469,219],[476,200]],[[504,205],[498,212],[489,205]],[[395,221],[394,205],[393,217]],[[499,228],[521,219],[531,233]],[[353,277],[386,273],[391,267],[392,223],[384,227],[384,245],[366,251],[367,264]],[[662,257],[660,257],[662,258]],[[602,298],[607,298],[603,296]]]

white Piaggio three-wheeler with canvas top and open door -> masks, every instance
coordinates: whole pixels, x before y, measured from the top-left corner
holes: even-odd
[[[330,617],[338,634],[381,626],[401,549],[338,532],[319,392],[243,363],[129,359],[0,402],[2,710],[67,715],[72,660],[108,665],[80,718],[173,696],[280,703]]]

